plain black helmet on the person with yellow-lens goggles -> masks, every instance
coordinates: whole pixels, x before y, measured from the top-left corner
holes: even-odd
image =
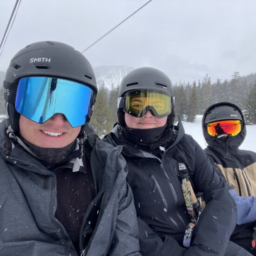
[[[152,89],[158,91],[168,92],[171,96],[172,111],[168,115],[168,127],[171,127],[174,121],[174,93],[172,82],[166,74],[153,67],[140,67],[128,73],[121,81],[119,88],[119,99],[128,91],[138,89]],[[118,103],[121,103],[118,101]],[[118,122],[125,127],[124,111],[122,103],[118,105]]]

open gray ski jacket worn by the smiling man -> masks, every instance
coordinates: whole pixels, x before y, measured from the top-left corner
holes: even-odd
[[[67,231],[54,217],[56,176],[19,147],[7,154],[4,127],[5,121],[0,123],[0,255],[77,256]],[[96,196],[81,226],[81,255],[140,256],[122,147],[113,147],[91,132],[85,148]]]

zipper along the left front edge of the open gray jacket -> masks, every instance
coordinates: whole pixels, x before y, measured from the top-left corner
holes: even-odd
[[[63,230],[61,229],[60,225],[58,223],[56,223],[54,221],[54,215],[53,215],[53,209],[54,209],[54,196],[55,196],[55,184],[56,184],[56,176],[52,173],[52,172],[49,172],[47,173],[46,171],[44,170],[41,170],[39,167],[37,167],[36,165],[34,164],[31,164],[31,163],[28,163],[28,162],[25,162],[25,161],[22,161],[20,159],[17,159],[17,158],[13,158],[13,157],[8,157],[9,159],[13,159],[14,163],[15,162],[20,162],[20,163],[23,163],[23,164],[26,164],[27,166],[33,166],[34,168],[38,169],[41,173],[45,174],[45,175],[49,175],[49,176],[52,176],[53,177],[53,190],[52,190],[52,198],[51,198],[51,205],[50,205],[50,219],[51,219],[51,222],[54,224],[54,226],[60,230],[61,232],[61,236],[64,238],[64,232]],[[67,241],[67,245],[68,247],[71,247],[73,248],[72,244],[70,241]]]

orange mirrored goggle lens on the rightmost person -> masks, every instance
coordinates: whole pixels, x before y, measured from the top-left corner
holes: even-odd
[[[240,120],[224,120],[207,124],[207,132],[211,136],[227,134],[236,136],[241,132]]]

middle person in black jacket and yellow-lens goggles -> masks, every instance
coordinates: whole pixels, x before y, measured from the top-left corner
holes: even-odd
[[[105,140],[126,146],[142,256],[250,255],[229,241],[237,214],[226,182],[182,123],[174,125],[166,74],[141,67],[123,78],[118,124]]]

